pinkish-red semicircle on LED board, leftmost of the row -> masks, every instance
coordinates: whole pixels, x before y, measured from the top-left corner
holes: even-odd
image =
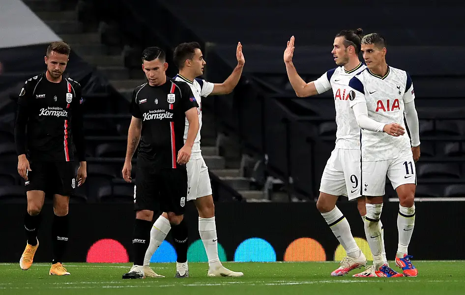
[[[128,263],[126,248],[117,240],[103,238],[90,246],[87,251],[88,263]]]

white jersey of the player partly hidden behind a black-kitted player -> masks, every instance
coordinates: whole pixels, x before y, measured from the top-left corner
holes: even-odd
[[[195,78],[194,81],[189,81],[186,78],[182,77],[181,75],[177,74],[174,76],[175,81],[182,81],[187,83],[192,93],[194,93],[194,97],[199,104],[199,108],[197,108],[197,114],[199,114],[199,132],[197,132],[197,136],[194,141],[194,146],[192,147],[192,154],[191,160],[196,160],[202,158],[202,150],[200,149],[200,130],[202,129],[202,97],[208,96],[211,91],[213,91],[213,83],[206,82],[205,80]],[[187,130],[189,128],[189,121],[186,118],[186,127],[184,129],[184,142],[187,139]]]

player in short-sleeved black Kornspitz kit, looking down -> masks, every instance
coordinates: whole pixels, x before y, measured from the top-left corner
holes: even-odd
[[[131,182],[131,159],[139,146],[134,186],[134,266],[123,279],[144,278],[144,256],[150,242],[153,211],[168,212],[160,231],[177,225],[187,198],[186,163],[199,131],[199,105],[190,87],[166,76],[168,63],[158,47],[146,48],[142,68],[148,82],[134,89],[128,131],[124,180]],[[184,143],[186,118],[189,122]],[[140,142],[140,145],[139,145]]]

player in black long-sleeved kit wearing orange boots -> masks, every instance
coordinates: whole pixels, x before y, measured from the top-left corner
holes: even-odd
[[[61,264],[68,242],[69,197],[87,177],[81,86],[63,76],[69,53],[69,45],[64,42],[50,44],[45,56],[47,71],[27,80],[21,89],[15,125],[18,173],[25,180],[28,197],[24,221],[28,242],[19,265],[23,270],[32,265],[47,192],[53,195],[55,213],[50,275],[69,275]],[[77,177],[76,158],[80,162]]]

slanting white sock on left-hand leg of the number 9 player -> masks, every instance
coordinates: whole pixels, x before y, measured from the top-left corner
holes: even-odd
[[[333,231],[334,236],[336,236],[343,248],[346,250],[347,256],[359,258],[361,253],[360,248],[353,239],[349,221],[347,221],[341,210],[339,210],[336,206],[331,211],[321,213],[321,215],[329,225],[331,231]]]

